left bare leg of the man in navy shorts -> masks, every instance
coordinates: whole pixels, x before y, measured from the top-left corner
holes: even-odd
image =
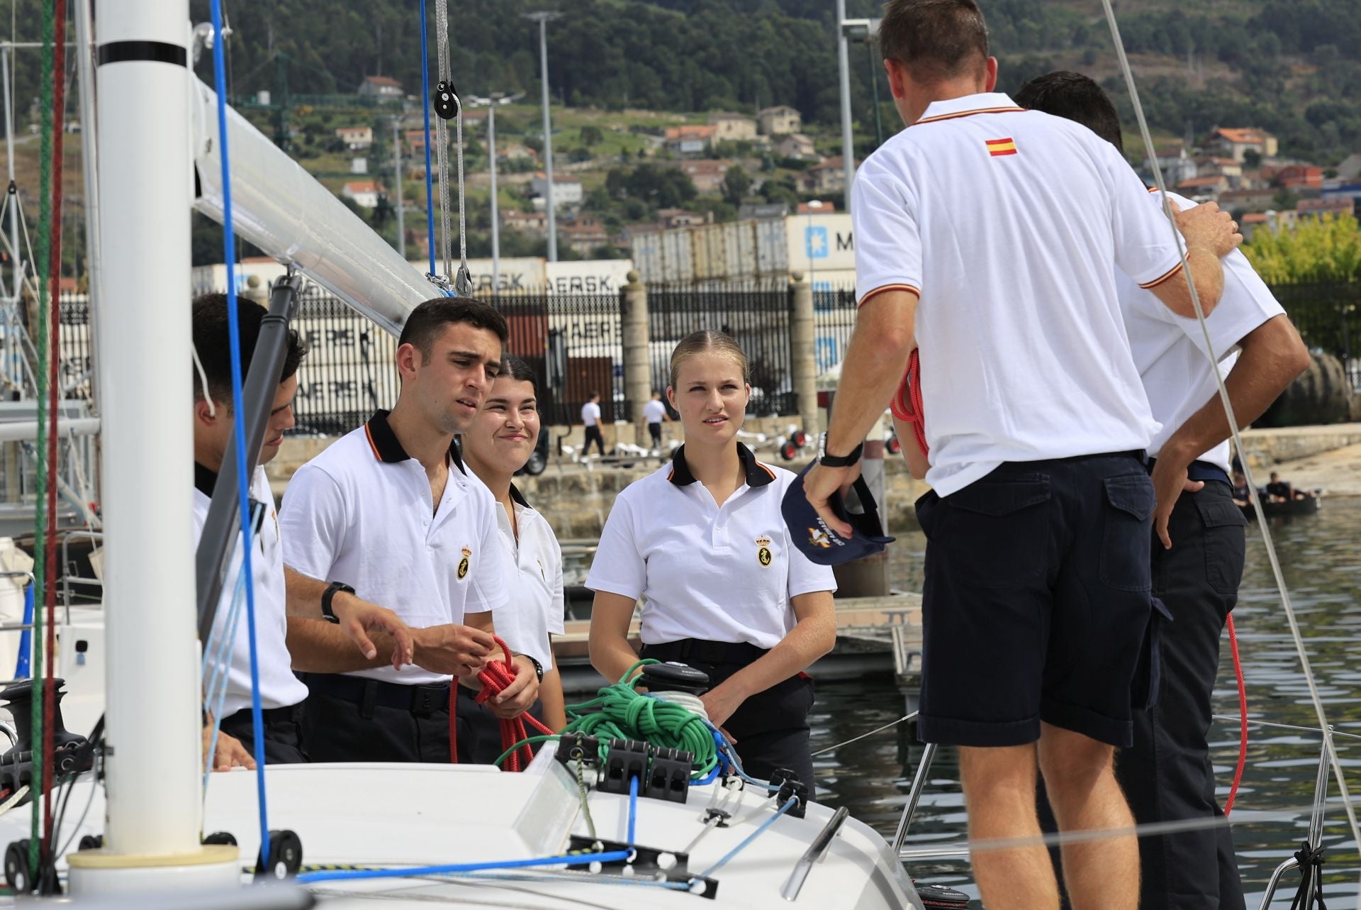
[[[960,747],[960,778],[969,806],[969,839],[1036,838],[1030,847],[974,850],[973,875],[988,910],[1057,910],[1059,884],[1038,842],[1034,745]]]

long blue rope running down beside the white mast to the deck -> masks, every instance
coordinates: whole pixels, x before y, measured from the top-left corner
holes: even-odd
[[[227,65],[222,37],[222,0],[212,7],[212,82],[218,91],[218,150],[222,155],[223,262],[234,263],[235,230],[231,225],[231,158],[227,154]],[[264,793],[264,710],[260,704],[260,661],[256,653],[255,569],[250,559],[250,475],[246,473],[245,409],[241,403],[241,326],[237,319],[237,282],[227,282],[227,335],[231,349],[231,407],[235,439],[237,486],[241,493],[241,572],[246,586],[246,627],[250,633],[250,722],[255,726],[256,800],[260,805],[260,856],[269,857],[269,813]]]

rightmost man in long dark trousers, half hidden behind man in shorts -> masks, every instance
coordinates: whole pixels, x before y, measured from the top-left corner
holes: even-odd
[[[1051,72],[1017,93],[1017,104],[1066,117],[1124,151],[1115,105],[1094,80]],[[1160,204],[1150,195],[1150,204]],[[1195,203],[1172,195],[1177,210]],[[1116,775],[1141,824],[1224,816],[1207,742],[1219,639],[1243,578],[1244,524],[1229,478],[1229,421],[1196,320],[1176,319],[1151,294],[1117,275],[1130,347],[1153,417],[1162,429],[1149,455],[1158,493],[1153,593],[1172,614],[1161,633],[1157,704],[1134,712],[1134,745]],[[1256,420],[1309,365],[1309,351],[1247,257],[1224,260],[1224,296],[1206,320],[1233,413]],[[1043,815],[1041,804],[1041,815]],[[1139,841],[1143,910],[1241,910],[1228,826]]]

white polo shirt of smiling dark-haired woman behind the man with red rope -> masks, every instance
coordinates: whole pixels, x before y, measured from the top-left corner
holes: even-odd
[[[520,527],[516,539],[510,516],[497,504],[497,529],[505,553],[506,589],[510,602],[491,617],[497,635],[517,654],[528,654],[553,669],[550,635],[563,633],[566,601],[562,595],[562,549],[546,519],[529,508],[520,490],[510,485],[514,519]]]

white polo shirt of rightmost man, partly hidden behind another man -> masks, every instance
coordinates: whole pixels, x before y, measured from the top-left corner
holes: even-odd
[[[1179,210],[1195,207],[1184,196],[1168,196]],[[1161,211],[1162,203],[1155,192],[1149,195],[1149,200]],[[1199,321],[1177,316],[1124,274],[1117,275],[1117,281],[1134,365],[1143,380],[1153,417],[1162,424],[1149,445],[1149,454],[1157,455],[1168,437],[1218,394],[1218,384]],[[1248,257],[1237,249],[1229,253],[1224,259],[1224,296],[1206,317],[1219,371],[1228,376],[1233,369],[1239,360],[1237,345],[1244,335],[1283,312]],[[1219,443],[1199,460],[1218,465],[1228,473],[1229,441]]]

